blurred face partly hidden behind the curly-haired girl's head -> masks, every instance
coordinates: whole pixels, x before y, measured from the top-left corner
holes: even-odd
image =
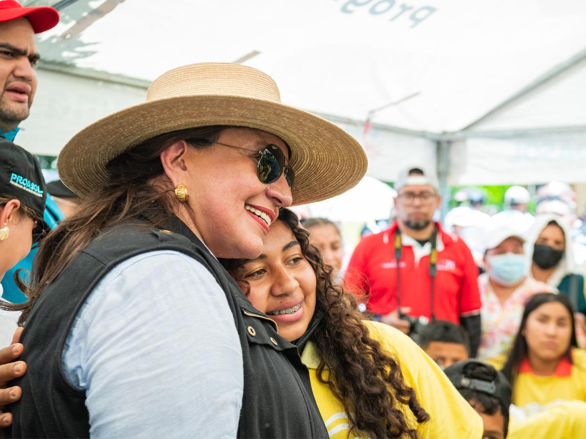
[[[309,231],[309,242],[322,252],[323,262],[333,267],[333,278],[340,279],[344,246],[338,226],[327,218],[302,219],[301,224]]]

